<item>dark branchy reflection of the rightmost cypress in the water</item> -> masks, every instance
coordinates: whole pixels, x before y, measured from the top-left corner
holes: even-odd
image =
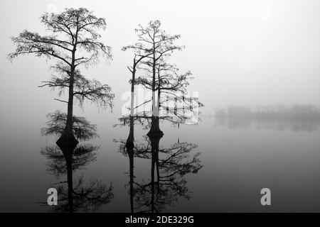
[[[159,140],[158,142],[159,143]],[[152,143],[151,143],[152,145]],[[155,145],[155,147],[159,146]],[[197,173],[203,166],[196,153],[190,159],[191,151],[197,146],[191,143],[175,143],[170,148],[151,148],[156,179],[139,184],[135,182],[136,209],[142,212],[160,212],[177,201],[178,197],[189,199],[185,175]],[[161,157],[159,157],[161,156]]]

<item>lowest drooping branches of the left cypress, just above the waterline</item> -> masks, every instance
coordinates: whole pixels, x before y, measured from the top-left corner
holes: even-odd
[[[60,111],[47,114],[47,127],[41,128],[43,135],[62,135],[65,124],[67,123],[67,114]],[[89,140],[98,137],[97,126],[91,124],[86,118],[73,116],[73,133],[79,140]]]

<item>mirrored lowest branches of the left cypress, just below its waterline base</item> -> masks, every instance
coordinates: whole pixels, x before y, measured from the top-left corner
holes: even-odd
[[[90,162],[97,160],[97,154],[94,153],[98,150],[98,146],[90,144],[79,145],[73,151],[72,167],[73,170],[83,170]],[[58,146],[46,146],[41,149],[41,155],[48,159],[48,173],[59,177],[67,173],[67,163],[65,162],[65,156]]]

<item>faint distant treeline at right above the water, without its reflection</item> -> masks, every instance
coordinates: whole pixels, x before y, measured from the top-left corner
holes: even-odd
[[[228,106],[216,108],[215,117],[258,117],[258,118],[318,118],[320,119],[320,107],[307,105],[276,105],[276,106]]]

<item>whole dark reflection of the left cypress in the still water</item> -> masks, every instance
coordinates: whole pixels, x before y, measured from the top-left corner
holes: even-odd
[[[66,187],[58,187],[58,206],[52,211],[74,212],[74,211],[97,211],[102,204],[107,204],[113,198],[112,185],[107,187],[98,180],[90,181],[88,186],[84,186],[83,176],[75,184],[73,182],[73,171],[83,170],[90,162],[96,160],[97,146],[90,144],[80,145],[73,148],[58,146],[47,146],[41,150],[41,154],[48,158],[48,172],[57,177],[67,175],[66,182],[58,184],[68,184]],[[75,186],[74,186],[75,185]]]

